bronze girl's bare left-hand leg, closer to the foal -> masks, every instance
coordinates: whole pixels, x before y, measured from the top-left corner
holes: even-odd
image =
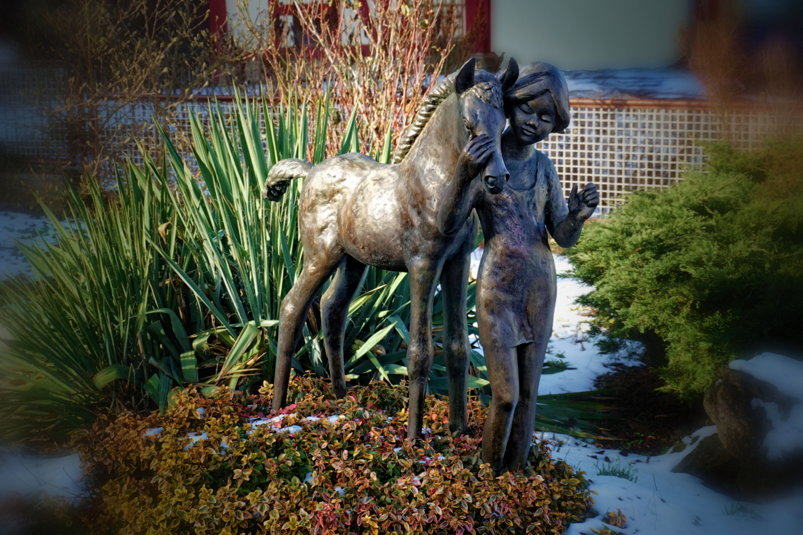
[[[480,330],[480,342],[483,338]],[[495,472],[503,466],[505,447],[513,423],[513,411],[519,403],[519,364],[516,347],[504,347],[491,341],[483,344],[488,378],[491,380],[491,407],[483,429],[483,463]]]

